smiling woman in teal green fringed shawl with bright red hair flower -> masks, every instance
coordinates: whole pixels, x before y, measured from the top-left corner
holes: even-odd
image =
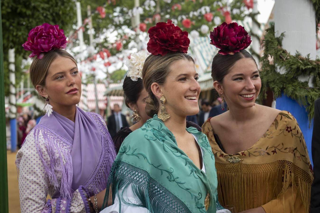
[[[148,31],[142,80],[151,117],[130,133],[112,166],[103,213],[229,212],[217,198],[217,174],[207,137],[186,117],[199,112],[200,86],[186,54],[188,33],[167,23]]]

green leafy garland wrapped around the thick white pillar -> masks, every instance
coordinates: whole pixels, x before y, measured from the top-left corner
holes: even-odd
[[[320,96],[320,59],[311,60],[309,55],[302,57],[299,52],[290,55],[282,48],[282,41],[285,34],[275,37],[275,26],[271,24],[267,29],[263,40],[263,57],[261,57],[262,67],[261,93],[262,98],[267,97],[267,90],[273,91],[274,97],[284,95],[303,105],[308,112],[309,121],[314,115],[314,102]],[[281,74],[277,72],[279,68],[286,70]],[[300,81],[299,76],[313,76],[313,87],[308,86],[308,81]]]

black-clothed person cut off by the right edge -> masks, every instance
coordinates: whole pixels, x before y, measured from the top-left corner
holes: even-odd
[[[313,132],[311,152],[313,160],[313,183],[311,186],[310,213],[320,212],[320,99],[315,101],[315,116],[313,120]]]

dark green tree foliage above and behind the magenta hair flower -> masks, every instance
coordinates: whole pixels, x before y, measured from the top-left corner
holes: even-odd
[[[58,24],[68,35],[76,23],[76,5],[72,0],[2,0],[2,29],[4,51],[4,88],[9,94],[8,50],[15,49],[16,85],[20,83],[21,60],[30,55],[22,48],[29,31],[43,23]]]

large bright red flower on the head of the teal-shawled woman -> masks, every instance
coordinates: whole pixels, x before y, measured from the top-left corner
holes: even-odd
[[[187,53],[190,40],[188,32],[182,31],[180,27],[174,26],[172,20],[168,19],[167,23],[158,22],[156,26],[148,30],[149,42],[147,50],[152,55],[166,55],[172,52]]]

